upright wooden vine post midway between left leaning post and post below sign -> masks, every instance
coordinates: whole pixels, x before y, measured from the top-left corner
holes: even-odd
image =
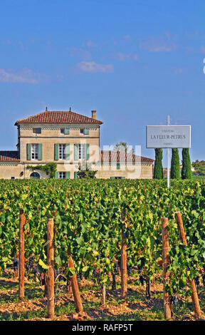
[[[122,298],[127,296],[127,241],[122,232],[121,244],[121,284],[122,284]]]

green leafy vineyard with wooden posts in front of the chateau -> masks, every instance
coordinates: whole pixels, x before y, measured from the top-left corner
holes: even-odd
[[[205,182],[166,184],[1,180],[0,320],[204,319]]]

